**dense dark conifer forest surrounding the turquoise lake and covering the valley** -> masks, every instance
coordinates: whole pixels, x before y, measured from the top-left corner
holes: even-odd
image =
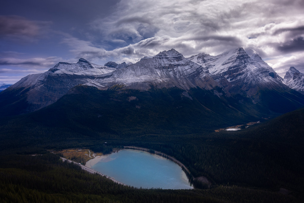
[[[77,87],[49,107],[1,118],[1,201],[304,200],[303,108],[240,131],[215,132],[233,124],[257,121],[263,115],[256,107],[238,106],[235,101],[219,103],[207,92],[195,89],[192,100],[174,97],[178,91],[155,89],[147,93]],[[202,95],[209,99],[200,98]],[[137,100],[130,100],[130,96]],[[219,107],[217,112],[210,111],[212,105]],[[113,147],[124,145],[173,156],[189,169],[192,177],[205,176],[211,185],[208,189],[195,181],[197,189],[177,191],[124,187],[46,152],[87,147],[109,153]],[[280,194],[280,188],[289,194]]]

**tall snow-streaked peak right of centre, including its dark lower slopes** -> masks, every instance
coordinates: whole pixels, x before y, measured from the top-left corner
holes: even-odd
[[[282,78],[260,56],[255,54],[250,58],[242,47],[217,56],[198,54],[188,59],[202,65],[205,72],[208,69],[210,76],[231,93],[252,96],[258,87],[282,85]]]

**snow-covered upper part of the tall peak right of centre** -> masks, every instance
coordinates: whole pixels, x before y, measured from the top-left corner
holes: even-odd
[[[255,54],[249,57],[242,47],[231,49],[216,56],[198,54],[189,57],[190,60],[208,69],[210,75],[217,81],[225,77],[229,82],[261,82],[260,77],[277,79],[282,83],[282,78],[261,57]],[[249,75],[248,75],[249,74]],[[265,83],[265,80],[263,80]]]

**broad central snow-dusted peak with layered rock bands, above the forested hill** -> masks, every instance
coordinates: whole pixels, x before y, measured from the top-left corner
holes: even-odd
[[[86,85],[106,89],[116,84],[124,84],[133,89],[149,89],[150,85],[154,85],[177,86],[185,90],[197,86],[204,89],[220,86],[203,71],[201,65],[186,59],[174,49],[144,57],[129,67],[118,69]]]

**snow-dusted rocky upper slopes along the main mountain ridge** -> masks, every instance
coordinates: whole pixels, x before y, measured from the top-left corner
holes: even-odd
[[[77,63],[59,62],[48,72],[40,76],[28,76],[22,82],[41,84],[49,75],[54,74],[70,75],[70,78],[74,75],[85,84],[102,88],[118,82],[126,85],[138,82],[167,82],[162,86],[178,86],[184,89],[199,86],[212,89],[212,86],[221,86],[219,83],[223,79],[231,83],[231,86],[242,84],[243,87],[274,82],[274,78],[278,81],[280,79],[257,54],[250,58],[242,47],[238,47],[217,56],[201,53],[189,58],[171,49],[144,57],[135,64],[117,64],[110,61],[102,66],[80,58]],[[210,87],[206,86],[206,81],[211,81]]]

